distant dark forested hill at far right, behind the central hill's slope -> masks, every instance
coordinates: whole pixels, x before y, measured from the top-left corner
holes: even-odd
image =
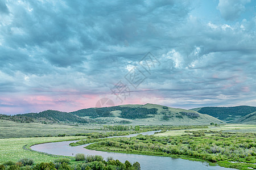
[[[240,117],[255,112],[256,107],[241,105],[237,107],[203,107],[191,110],[202,114],[209,114],[210,116],[216,117],[225,122],[233,122],[238,120]]]

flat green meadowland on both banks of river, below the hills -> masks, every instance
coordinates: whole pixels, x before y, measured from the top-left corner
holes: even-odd
[[[96,142],[86,148],[92,150],[123,152],[130,154],[171,156],[189,160],[207,161],[211,165],[221,165],[237,169],[256,168],[256,125],[217,125],[217,126],[170,126],[152,125],[140,126],[137,131],[135,127],[123,126],[123,131],[114,129],[115,126],[68,126],[68,125],[44,125],[44,124],[19,124],[1,121],[1,130],[11,129],[15,135],[18,133],[22,138],[0,139],[0,164],[9,160],[18,162],[21,158],[31,158],[35,163],[54,162],[57,158],[68,158],[67,156],[46,155],[40,152],[24,149],[31,145],[46,142],[73,141],[87,139],[73,143],[73,146]],[[117,127],[117,126],[116,126]],[[130,127],[129,130],[128,127]],[[49,128],[49,129],[48,129]],[[120,128],[118,126],[118,128]],[[15,131],[18,129],[20,131]],[[47,130],[48,129],[48,130]],[[52,130],[52,131],[51,131]],[[127,135],[141,131],[161,130],[151,136],[138,135],[133,138],[111,138],[99,139],[113,135]],[[35,133],[35,134],[33,134]],[[28,137],[29,135],[71,133],[76,136],[65,137]]]

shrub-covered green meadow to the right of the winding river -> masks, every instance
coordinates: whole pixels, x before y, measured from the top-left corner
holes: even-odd
[[[151,136],[138,135],[129,139],[88,139],[71,145],[93,143],[86,148],[108,152],[170,156],[207,161],[211,165],[218,164],[222,167],[255,169],[255,128],[255,125],[209,126],[201,129],[168,130]],[[246,131],[246,133],[237,132],[237,130]]]

